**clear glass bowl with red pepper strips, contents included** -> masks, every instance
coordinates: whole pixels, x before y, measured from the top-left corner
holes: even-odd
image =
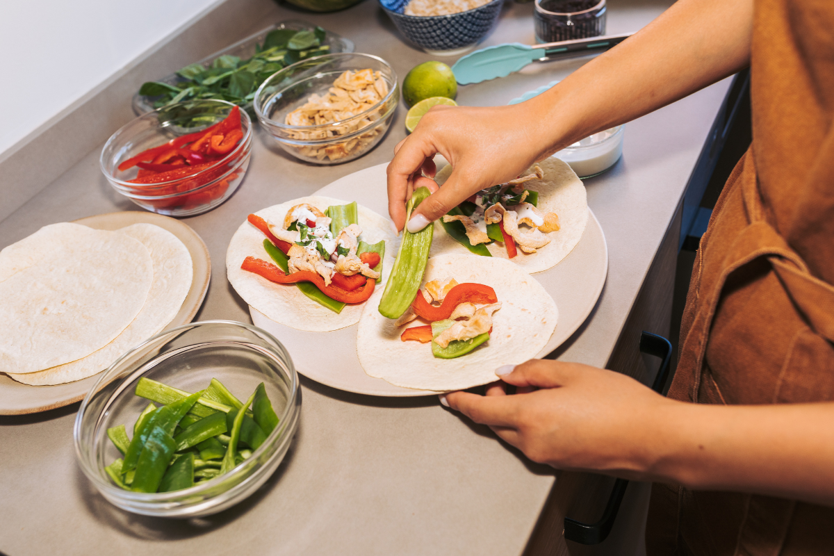
[[[249,115],[232,103],[198,100],[128,123],[108,139],[100,165],[110,185],[138,206],[193,216],[234,193],[251,153]]]

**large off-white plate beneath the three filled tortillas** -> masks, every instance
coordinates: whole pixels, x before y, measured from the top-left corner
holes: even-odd
[[[315,195],[356,201],[379,214],[388,214],[385,185],[387,163],[340,178]],[[440,164],[439,164],[440,166]],[[573,251],[545,272],[535,273],[541,285],[555,299],[559,323],[550,342],[538,353],[544,357],[570,338],[594,309],[608,273],[608,246],[600,223],[589,209],[588,224]],[[387,248],[387,246],[386,246]],[[356,325],[333,332],[304,332],[275,323],[249,307],[252,322],[278,338],[289,350],[299,373],[316,382],[347,392],[371,396],[425,396],[428,390],[400,388],[364,373],[356,354]]]

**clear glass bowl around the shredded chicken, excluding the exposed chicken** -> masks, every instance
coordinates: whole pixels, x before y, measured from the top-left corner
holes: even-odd
[[[287,114],[313,94],[325,95],[336,78],[347,70],[379,72],[387,85],[384,98],[364,112],[333,123],[294,126]],[[370,54],[324,54],[274,73],[255,93],[258,121],[287,153],[309,163],[340,164],[361,157],[376,146],[388,131],[399,101],[394,68]]]

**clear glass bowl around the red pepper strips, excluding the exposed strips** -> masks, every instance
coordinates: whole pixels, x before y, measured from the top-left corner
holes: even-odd
[[[244,179],[252,154],[252,120],[240,111],[244,138],[224,158],[185,178],[163,183],[131,183],[138,168],[122,172],[118,165],[148,148],[157,147],[187,133],[218,123],[234,108],[222,100],[197,100],[172,104],[139,116],[108,139],[99,164],[110,185],[133,203],[166,216],[193,216],[223,203]]]

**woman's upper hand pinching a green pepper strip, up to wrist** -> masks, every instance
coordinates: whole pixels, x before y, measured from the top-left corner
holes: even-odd
[[[414,210],[410,232],[448,213],[480,189],[503,183],[524,172],[545,148],[537,130],[540,121],[532,103],[496,108],[435,106],[420,120],[414,133],[394,148],[388,166],[388,210],[398,230],[405,225],[405,202],[412,190],[435,183],[431,159],[442,154],[454,171],[443,188]]]

